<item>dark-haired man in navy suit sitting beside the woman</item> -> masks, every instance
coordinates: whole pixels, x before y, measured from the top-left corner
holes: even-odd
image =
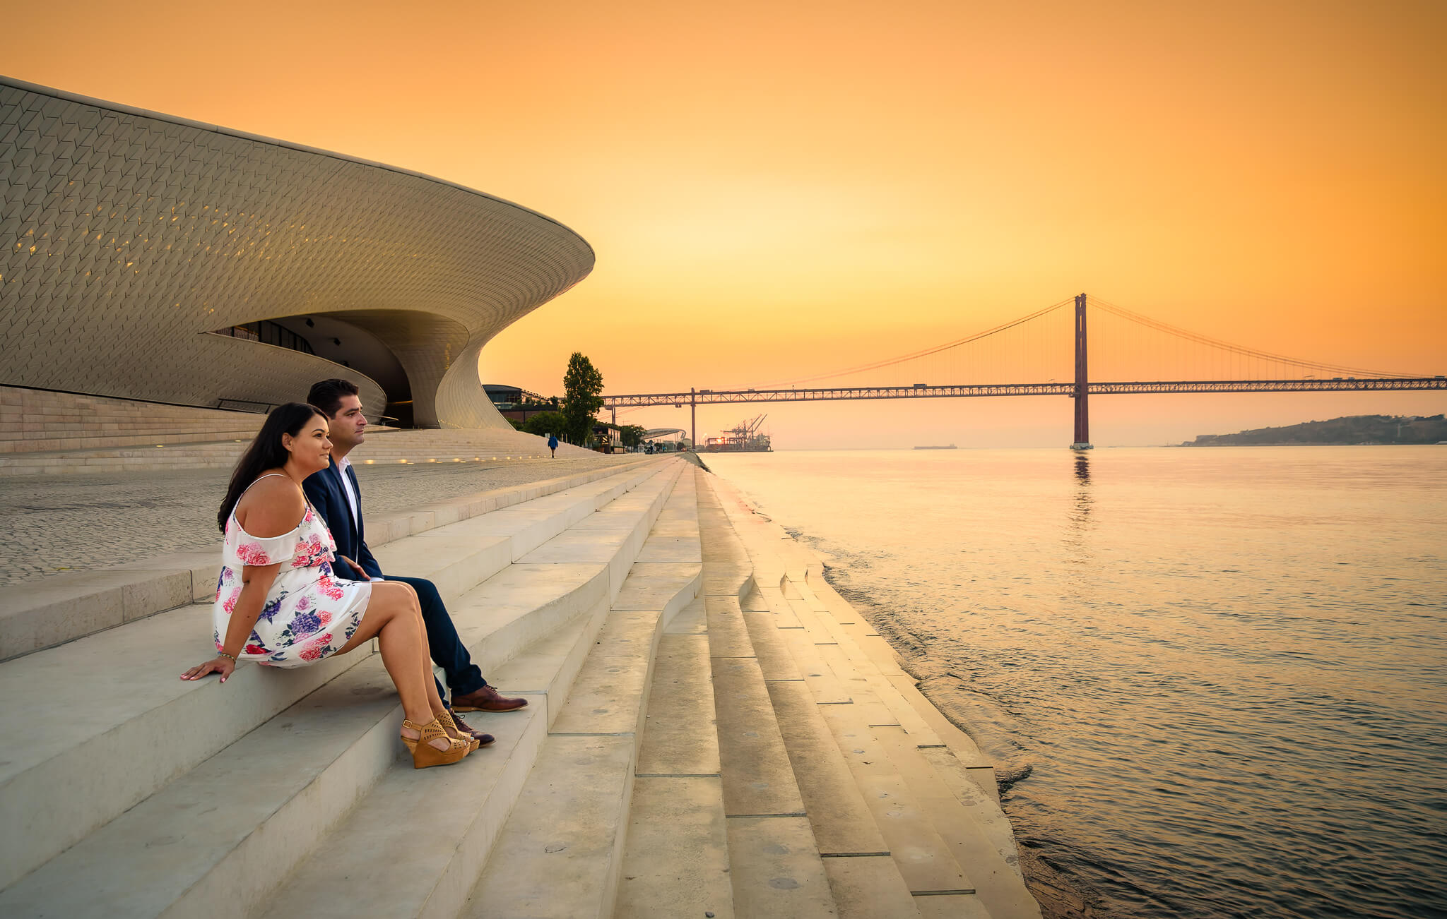
[[[447,675],[451,689],[453,721],[463,731],[470,731],[483,746],[492,743],[492,735],[476,731],[457,717],[460,711],[514,711],[528,704],[527,699],[506,699],[488,685],[482,670],[472,662],[467,647],[457,637],[457,627],[443,605],[443,598],[431,581],[388,575],[366,545],[365,522],[362,519],[362,490],[347,454],[362,444],[366,418],[362,416],[362,399],[356,384],[347,380],[323,380],[313,384],[307,402],[321,409],[331,419],[331,465],[307,478],[302,488],[307,500],[326,519],[331,538],[337,540],[339,564],[333,566],[337,577],[352,581],[402,581],[412,585],[423,607],[423,621],[427,626],[427,642],[431,644],[433,660]],[[341,558],[350,562],[340,562]],[[436,678],[434,678],[436,679]],[[437,692],[444,699],[447,694],[437,683]]]

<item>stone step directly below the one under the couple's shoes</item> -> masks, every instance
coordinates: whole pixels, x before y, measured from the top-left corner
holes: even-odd
[[[463,915],[614,915],[653,665],[700,584],[696,562],[632,565]]]

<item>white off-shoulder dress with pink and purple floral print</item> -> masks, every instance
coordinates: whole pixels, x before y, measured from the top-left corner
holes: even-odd
[[[221,579],[216,585],[211,610],[216,649],[221,650],[232,610],[242,597],[242,566],[282,562],[256,627],[237,659],[300,668],[334,655],[356,633],[372,598],[370,582],[333,577],[336,548],[331,532],[310,503],[297,529],[269,538],[243,530],[236,512],[232,512],[221,548]]]

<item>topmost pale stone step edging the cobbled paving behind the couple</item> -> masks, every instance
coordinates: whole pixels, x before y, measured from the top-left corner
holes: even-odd
[[[548,520],[540,532],[556,536],[561,532],[560,520],[576,520],[586,516],[589,509],[605,507],[660,468],[663,467],[658,460],[648,460],[622,468],[592,470],[522,487],[479,491],[405,513],[369,516],[368,545],[382,558],[383,553],[378,551],[381,546],[405,536],[498,509],[517,507],[544,496],[556,497],[573,507],[563,517],[538,512]],[[499,520],[492,525],[489,535],[511,538],[512,530]],[[531,542],[528,549],[537,545],[540,542]],[[210,600],[216,595],[220,556],[220,546],[208,545],[145,562],[12,585],[6,592],[4,608],[0,610],[0,660],[64,644],[192,601]],[[427,565],[412,568],[411,558],[402,558],[401,562],[410,572],[430,569]],[[392,569],[402,571],[402,568]]]

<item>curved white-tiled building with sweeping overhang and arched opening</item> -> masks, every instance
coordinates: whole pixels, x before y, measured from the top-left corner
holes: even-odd
[[[592,267],[482,192],[0,77],[3,386],[255,409],[341,376],[511,429],[478,354]]]

